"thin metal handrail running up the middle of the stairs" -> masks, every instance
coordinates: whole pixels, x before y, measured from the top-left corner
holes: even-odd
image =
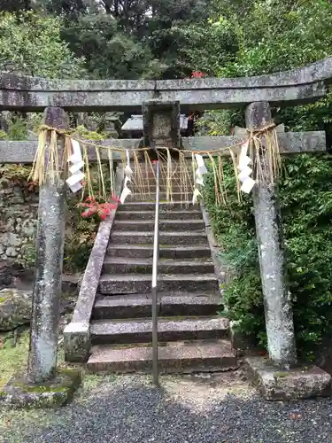
[[[159,385],[158,371],[158,261],[159,261],[159,162],[156,161],[156,208],[152,259],[152,378]]]

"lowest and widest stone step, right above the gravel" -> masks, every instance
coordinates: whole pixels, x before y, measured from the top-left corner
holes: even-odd
[[[170,342],[158,347],[158,369],[162,374],[212,372],[237,369],[228,340]],[[87,369],[94,373],[149,372],[152,348],[141,346],[93,346]]]

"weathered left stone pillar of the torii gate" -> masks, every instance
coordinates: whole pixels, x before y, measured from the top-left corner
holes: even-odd
[[[68,127],[66,113],[58,107],[45,110],[44,123],[53,128]],[[62,152],[63,141],[59,142],[58,147]],[[39,193],[33,318],[27,370],[29,381],[35,384],[50,380],[57,369],[65,208],[65,182],[44,183]]]

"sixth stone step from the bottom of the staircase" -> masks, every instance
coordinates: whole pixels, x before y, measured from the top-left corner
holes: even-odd
[[[108,245],[107,255],[109,257],[124,257],[128,259],[151,259],[153,257],[152,245]],[[160,245],[160,259],[211,259],[209,246],[174,246],[165,247]]]

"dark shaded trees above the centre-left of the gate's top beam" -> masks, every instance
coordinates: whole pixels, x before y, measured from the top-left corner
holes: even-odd
[[[63,17],[62,38],[97,78],[189,74],[191,67],[177,58],[192,43],[189,33],[181,34],[207,18],[205,0],[37,0],[37,5]]]

